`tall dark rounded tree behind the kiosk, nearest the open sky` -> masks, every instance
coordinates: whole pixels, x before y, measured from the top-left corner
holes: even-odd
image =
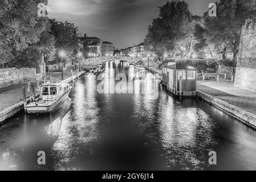
[[[148,34],[144,40],[145,49],[157,53],[160,57],[165,52],[183,55],[187,47],[193,47],[193,32],[191,27],[197,19],[192,17],[185,1],[173,0],[160,6],[159,18],[153,19],[148,27]],[[163,59],[162,59],[163,60]]]

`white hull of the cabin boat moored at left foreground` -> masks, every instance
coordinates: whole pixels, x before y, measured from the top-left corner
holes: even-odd
[[[71,88],[68,89],[61,97],[59,97],[58,100],[50,102],[46,101],[43,102],[42,104],[36,105],[35,102],[32,102],[31,104],[26,106],[27,113],[29,114],[48,114],[48,113],[53,113],[56,109],[59,108],[60,105],[64,101],[67,100],[68,95],[70,94]]]

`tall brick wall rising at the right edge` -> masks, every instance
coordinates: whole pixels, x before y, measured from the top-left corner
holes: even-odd
[[[256,91],[256,19],[242,26],[234,84]]]

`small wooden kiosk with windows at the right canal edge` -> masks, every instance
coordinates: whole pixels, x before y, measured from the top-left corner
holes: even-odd
[[[184,63],[168,63],[162,68],[162,84],[173,96],[196,96],[197,69]]]

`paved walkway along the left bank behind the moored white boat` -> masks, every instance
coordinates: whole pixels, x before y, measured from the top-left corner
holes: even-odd
[[[74,76],[75,76],[74,72]],[[61,81],[62,73],[47,73],[46,76],[52,77],[52,81],[59,82]],[[64,79],[71,77],[71,73],[64,73]],[[19,84],[14,84],[11,86],[7,86],[5,88],[0,88],[0,111],[6,109],[6,107],[12,106],[23,100],[22,95],[22,86],[26,88],[26,96],[29,96],[29,92],[27,92],[27,84],[29,82],[21,82]]]

